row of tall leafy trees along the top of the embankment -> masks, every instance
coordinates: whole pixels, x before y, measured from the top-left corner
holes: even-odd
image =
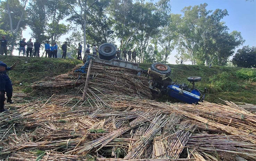
[[[77,44],[119,41],[119,49],[137,51],[139,62],[166,63],[176,48],[176,62],[226,65],[235,48],[244,43],[238,31],[228,32],[222,19],[226,9],[207,10],[207,4],[188,6],[171,14],[169,0],[6,0],[0,4],[0,35],[9,40],[9,53],[26,27],[40,42]],[[69,22],[66,25],[63,22]],[[72,32],[66,40],[60,36]]]

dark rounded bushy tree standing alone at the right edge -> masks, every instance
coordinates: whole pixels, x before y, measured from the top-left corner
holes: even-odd
[[[251,68],[256,67],[256,47],[250,47],[249,45],[243,46],[242,49],[238,49],[232,59],[232,63],[238,67]]]

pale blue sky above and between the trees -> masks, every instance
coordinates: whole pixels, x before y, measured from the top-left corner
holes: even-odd
[[[157,2],[157,0],[154,0]],[[243,38],[246,40],[243,45],[256,46],[256,1],[245,0],[171,0],[171,13],[182,14],[181,10],[186,6],[200,5],[201,3],[207,3],[207,10],[215,9],[227,9],[228,16],[224,17],[222,21],[226,22],[226,25],[230,29],[229,32],[237,30],[241,32]],[[68,24],[68,22],[64,22]],[[26,41],[31,37],[30,28],[27,28],[22,32]],[[71,33],[61,36],[60,41],[64,41],[69,37]],[[239,46],[237,49],[242,48]],[[237,50],[236,49],[236,50]],[[176,50],[172,51],[169,56],[168,62],[170,64],[176,64],[175,55]],[[14,55],[18,55],[18,51],[14,51]],[[191,64],[186,62],[185,64]]]

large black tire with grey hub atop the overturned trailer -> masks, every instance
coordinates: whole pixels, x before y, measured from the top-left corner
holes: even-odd
[[[100,59],[111,60],[116,57],[116,47],[113,44],[105,43],[99,47]]]

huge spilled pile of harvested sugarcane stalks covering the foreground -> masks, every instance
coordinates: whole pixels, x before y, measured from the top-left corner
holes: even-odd
[[[15,94],[22,103],[0,114],[0,160],[256,160],[252,105],[157,102],[144,76],[96,63],[92,72],[85,101],[86,75],[74,70],[33,84],[35,98]]]

